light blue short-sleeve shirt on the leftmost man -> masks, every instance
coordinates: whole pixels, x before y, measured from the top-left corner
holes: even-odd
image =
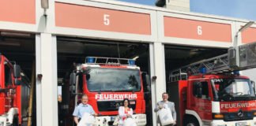
[[[92,109],[92,106],[90,106],[88,104],[84,105],[84,104],[80,103],[73,110],[73,117],[81,118],[84,115],[84,113],[95,113],[95,112]]]

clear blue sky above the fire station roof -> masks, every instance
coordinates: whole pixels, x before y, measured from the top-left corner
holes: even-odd
[[[119,0],[154,6],[156,0]],[[190,0],[190,11],[256,20],[256,0]]]

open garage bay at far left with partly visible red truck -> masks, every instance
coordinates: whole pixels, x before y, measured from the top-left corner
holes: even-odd
[[[1,115],[15,107],[18,114],[13,115],[13,125],[27,125],[28,113],[32,114],[32,125],[36,125],[36,107],[28,110],[29,95],[32,91],[32,71],[36,71],[35,35],[24,32],[0,31],[1,65]],[[14,64],[21,66],[21,83],[16,83]],[[35,67],[32,67],[34,64]],[[34,72],[35,75],[35,72]],[[3,77],[4,76],[4,77]],[[12,76],[9,78],[9,76]],[[34,76],[35,77],[35,76]],[[33,82],[35,84],[35,82]],[[34,89],[33,89],[34,90]],[[12,93],[10,93],[12,92]],[[14,93],[13,93],[14,92]],[[36,106],[36,92],[31,97],[31,106]],[[32,111],[31,111],[32,110]],[[29,112],[28,112],[29,111]],[[29,119],[30,120],[30,119]],[[7,120],[8,122],[9,120]],[[31,122],[31,121],[30,121]]]

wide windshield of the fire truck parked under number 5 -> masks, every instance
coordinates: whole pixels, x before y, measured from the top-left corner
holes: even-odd
[[[86,80],[89,91],[141,91],[138,69],[90,68]]]

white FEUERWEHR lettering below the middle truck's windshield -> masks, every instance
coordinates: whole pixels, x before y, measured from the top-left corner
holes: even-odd
[[[108,100],[108,99],[120,99],[129,98],[129,99],[137,99],[137,94],[97,94],[95,95],[96,100]]]

